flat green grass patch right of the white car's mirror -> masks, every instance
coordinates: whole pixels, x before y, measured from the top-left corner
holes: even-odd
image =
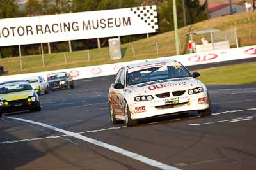
[[[198,79],[205,84],[234,85],[256,83],[255,68],[256,62],[249,62],[197,71],[201,74]]]

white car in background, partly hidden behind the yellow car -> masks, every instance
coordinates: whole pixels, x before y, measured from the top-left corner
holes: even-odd
[[[35,89],[35,87],[39,87],[39,89],[36,90],[38,95],[40,95],[41,92],[45,92],[45,94],[49,93],[49,83],[42,78],[42,76],[30,77],[26,78],[25,80],[28,81],[33,89]]]

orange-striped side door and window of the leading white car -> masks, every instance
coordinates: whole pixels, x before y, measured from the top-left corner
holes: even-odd
[[[113,110],[116,115],[124,116],[124,87],[125,87],[125,69],[120,69],[112,85],[111,99],[113,100]]]

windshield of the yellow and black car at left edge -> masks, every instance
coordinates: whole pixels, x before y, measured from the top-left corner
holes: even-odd
[[[31,85],[20,83],[20,84],[10,84],[10,85],[0,86],[0,94],[8,94],[8,93],[20,92],[25,90],[32,90]]]

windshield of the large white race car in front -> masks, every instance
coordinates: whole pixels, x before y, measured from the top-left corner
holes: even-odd
[[[127,74],[127,85],[184,77],[191,77],[191,74],[184,66],[152,67]]]

